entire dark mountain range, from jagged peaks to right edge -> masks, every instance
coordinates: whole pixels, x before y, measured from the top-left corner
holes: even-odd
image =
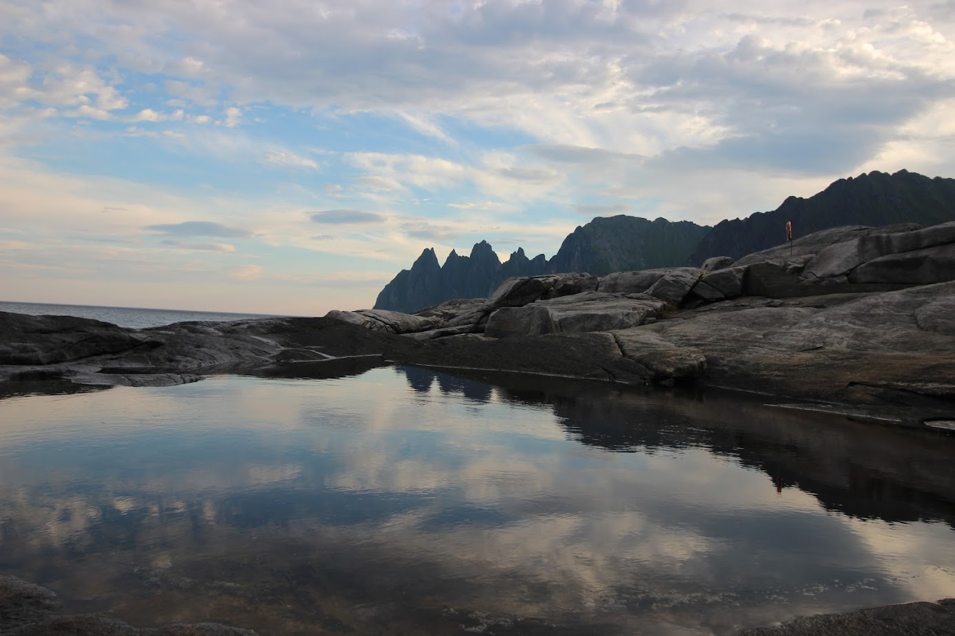
[[[518,248],[501,263],[486,241],[471,256],[448,255],[438,267],[434,249],[425,250],[412,269],[385,286],[375,309],[414,312],[452,298],[487,297],[508,277],[563,272],[605,276],[654,267],[700,265],[711,256],[739,258],[786,240],[786,221],[794,236],[838,225],[891,223],[937,225],[955,220],[955,179],[899,171],[872,172],[839,179],[810,196],[790,196],[772,212],[725,220],[715,227],[690,221],[650,221],[637,216],[597,217],[563,239],[549,261],[528,258]]]

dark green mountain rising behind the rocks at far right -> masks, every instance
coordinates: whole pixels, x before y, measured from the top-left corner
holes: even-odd
[[[772,212],[721,221],[690,256],[699,265],[711,256],[739,258],[786,240],[786,221],[794,236],[806,236],[838,225],[937,225],[955,220],[955,179],[929,178],[899,171],[872,172],[839,179],[810,196],[790,196]]]

